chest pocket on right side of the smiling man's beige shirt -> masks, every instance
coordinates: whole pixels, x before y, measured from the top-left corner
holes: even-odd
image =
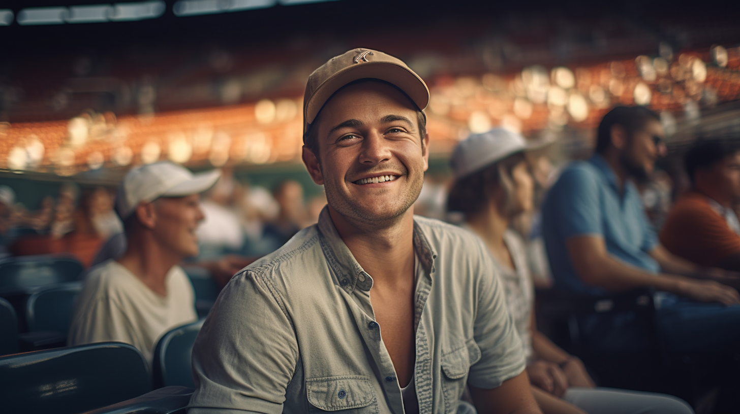
[[[454,350],[444,353],[440,360],[442,372],[442,391],[445,396],[445,413],[455,413],[457,404],[465,390],[465,379],[472,364],[480,359],[480,348],[474,339],[470,339],[465,345],[460,343],[453,347]]]

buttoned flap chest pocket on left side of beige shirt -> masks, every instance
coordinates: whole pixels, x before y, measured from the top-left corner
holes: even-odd
[[[367,376],[330,376],[306,380],[309,410],[377,413],[377,398]]]

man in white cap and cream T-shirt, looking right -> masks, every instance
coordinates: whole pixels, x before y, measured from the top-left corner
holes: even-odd
[[[169,162],[132,169],[116,194],[128,245],[118,259],[90,268],[77,299],[69,345],[127,342],[149,363],[155,341],[194,322],[192,285],[178,262],[198,254],[200,196],[221,172],[192,174]]]

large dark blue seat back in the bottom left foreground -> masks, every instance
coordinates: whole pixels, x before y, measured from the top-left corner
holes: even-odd
[[[101,342],[0,356],[0,412],[73,414],[152,390],[132,345]]]

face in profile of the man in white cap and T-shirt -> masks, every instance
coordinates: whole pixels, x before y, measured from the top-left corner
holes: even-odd
[[[155,240],[178,256],[197,256],[195,229],[205,218],[200,195],[162,197],[154,205],[156,215],[152,221],[152,234]]]

